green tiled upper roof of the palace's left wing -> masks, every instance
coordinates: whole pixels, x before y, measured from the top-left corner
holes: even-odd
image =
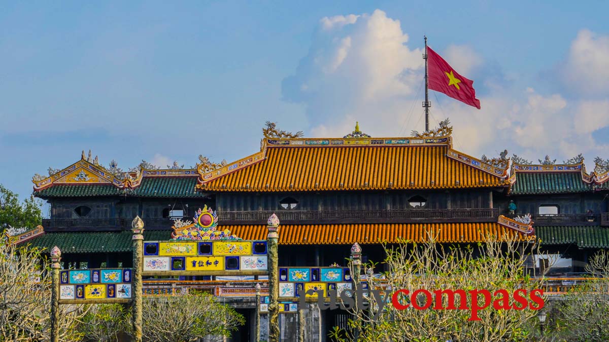
[[[143,177],[141,184],[127,191],[119,189],[112,184],[54,184],[46,189],[34,192],[37,197],[93,197],[124,195],[139,197],[205,197],[206,194],[197,191],[196,176],[149,176]]]

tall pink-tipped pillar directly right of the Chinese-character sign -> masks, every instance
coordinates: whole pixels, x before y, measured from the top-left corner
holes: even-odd
[[[270,215],[268,223],[267,251],[269,256],[269,342],[278,342],[279,330],[279,256],[277,242],[279,240],[279,218]]]

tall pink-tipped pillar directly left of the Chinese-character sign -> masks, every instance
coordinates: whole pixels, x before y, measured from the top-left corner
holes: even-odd
[[[133,341],[142,341],[142,258],[144,255],[144,221],[139,216],[131,223],[133,232],[133,304],[132,326]]]

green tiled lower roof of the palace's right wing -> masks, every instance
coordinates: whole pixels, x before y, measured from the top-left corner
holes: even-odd
[[[541,245],[577,245],[579,248],[609,248],[609,229],[594,226],[540,226],[535,234]]]

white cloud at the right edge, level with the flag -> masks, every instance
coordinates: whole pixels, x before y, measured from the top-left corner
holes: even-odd
[[[609,36],[580,30],[572,41],[563,74],[565,85],[582,94],[607,95],[609,91]]]

